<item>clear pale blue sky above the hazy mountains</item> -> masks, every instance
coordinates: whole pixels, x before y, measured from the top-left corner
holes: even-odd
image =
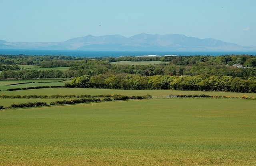
[[[184,34],[256,46],[256,0],[0,0],[0,40]]]

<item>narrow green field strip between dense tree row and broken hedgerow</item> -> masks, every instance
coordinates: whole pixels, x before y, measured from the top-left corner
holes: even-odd
[[[60,82],[64,83],[64,82]],[[201,92],[201,91],[181,91],[181,90],[116,90],[116,89],[94,89],[94,88],[46,88],[46,89],[31,89],[31,90],[18,90],[18,91],[2,91],[0,94],[5,95],[81,95],[81,94],[90,94],[90,95],[100,95],[100,94],[122,94],[127,96],[133,95],[146,95],[150,94],[152,96],[166,96],[170,94],[206,94],[210,96],[239,96],[247,95],[249,97],[256,97],[254,93],[233,93],[233,92]]]

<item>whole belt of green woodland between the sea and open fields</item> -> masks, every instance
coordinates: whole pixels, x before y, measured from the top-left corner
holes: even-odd
[[[159,64],[113,64],[161,61]],[[242,64],[242,68],[232,67]],[[40,66],[24,69],[24,65]],[[67,70],[58,70],[66,67]],[[65,87],[256,92],[256,56],[74,57],[0,55],[0,79],[72,78]],[[45,68],[45,70],[44,70]]]

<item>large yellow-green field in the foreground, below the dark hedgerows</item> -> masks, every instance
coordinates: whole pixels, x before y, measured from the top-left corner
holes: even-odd
[[[176,98],[2,110],[0,165],[255,165],[255,107]]]

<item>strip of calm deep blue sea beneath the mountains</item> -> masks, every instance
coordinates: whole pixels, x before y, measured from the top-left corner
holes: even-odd
[[[81,56],[81,57],[102,57],[102,56],[143,56],[143,55],[210,55],[210,56],[220,56],[220,55],[256,55],[254,52],[182,52],[182,51],[84,51],[84,50],[14,50],[14,49],[0,49],[0,54],[4,55],[66,55],[66,56]]]

